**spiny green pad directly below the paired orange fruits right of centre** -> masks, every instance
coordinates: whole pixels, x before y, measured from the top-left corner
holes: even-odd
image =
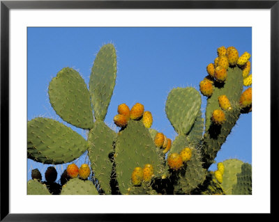
[[[206,169],[202,168],[202,156],[199,150],[192,150],[192,157],[183,166],[185,171],[181,171],[179,184],[183,193],[190,193],[206,179]]]

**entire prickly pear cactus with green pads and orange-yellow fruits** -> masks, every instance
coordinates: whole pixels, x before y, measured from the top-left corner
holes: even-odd
[[[219,47],[217,53],[199,84],[207,97],[205,120],[198,90],[169,92],[165,113],[177,133],[173,141],[151,128],[152,114],[140,103],[131,109],[124,103],[118,106],[113,120],[119,132],[105,124],[116,81],[112,44],[98,52],[89,88],[76,70],[63,68],[50,81],[50,103],[64,121],[88,130],[87,140],[61,122],[33,118],[27,123],[27,157],[56,165],[86,153],[90,167],[69,164],[55,192],[50,188],[55,168],[45,172],[46,182],[34,170],[28,194],[252,194],[250,164],[227,159],[209,171],[239,116],[252,111],[252,88],[243,91],[252,84],[250,54],[239,56],[234,47]]]

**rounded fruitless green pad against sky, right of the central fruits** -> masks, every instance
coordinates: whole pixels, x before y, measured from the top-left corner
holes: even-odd
[[[195,88],[174,88],[170,91],[165,112],[178,134],[188,134],[199,114],[201,104],[202,98]]]

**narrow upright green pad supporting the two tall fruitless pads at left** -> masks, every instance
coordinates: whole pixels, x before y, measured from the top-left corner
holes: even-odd
[[[105,125],[105,122],[97,120],[90,130],[88,141],[88,155],[94,176],[100,183],[100,187],[106,194],[111,193],[110,175],[112,173],[112,161],[109,154],[114,151],[113,143],[116,140],[116,132]]]

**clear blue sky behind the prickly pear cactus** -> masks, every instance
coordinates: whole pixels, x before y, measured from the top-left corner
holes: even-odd
[[[199,90],[206,65],[213,63],[220,46],[234,46],[239,54],[252,54],[252,29],[28,28],[28,120],[44,116],[63,122],[50,105],[48,84],[59,70],[70,67],[78,70],[88,85],[96,54],[107,43],[113,43],[117,51],[116,86],[105,118],[107,125],[114,127],[119,104],[126,103],[131,108],[140,102],[153,115],[152,128],[173,140],[176,133],[165,114],[169,91],[186,86]],[[203,115],[205,107],[206,97],[202,96]],[[86,138],[84,130],[68,126]],[[251,113],[241,115],[216,161],[229,158],[252,164]],[[84,161],[88,163],[84,158],[74,162],[80,166]],[[56,166],[59,174],[67,165]],[[28,160],[28,180],[32,168],[38,168],[44,177],[47,166]],[[216,164],[210,169],[215,170]]]

